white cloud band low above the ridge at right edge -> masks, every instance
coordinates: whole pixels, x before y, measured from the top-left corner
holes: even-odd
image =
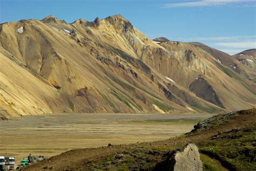
[[[231,47],[231,48],[256,49],[256,42],[219,42],[214,44],[217,46]]]

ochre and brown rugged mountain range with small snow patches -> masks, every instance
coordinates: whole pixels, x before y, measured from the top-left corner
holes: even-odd
[[[240,57],[201,43],[151,40],[120,15],[3,23],[0,115],[252,108],[256,54]]]

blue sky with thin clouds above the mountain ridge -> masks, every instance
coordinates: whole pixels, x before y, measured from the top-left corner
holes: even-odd
[[[0,0],[0,23],[115,14],[152,39],[201,42],[230,54],[256,48],[256,0]]]

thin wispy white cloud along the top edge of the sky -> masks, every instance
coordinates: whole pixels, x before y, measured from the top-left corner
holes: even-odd
[[[245,3],[245,2],[256,2],[256,0],[201,0],[201,1],[194,1],[194,2],[164,4],[163,8],[190,7],[190,6],[215,6],[215,5],[226,5],[231,3]]]

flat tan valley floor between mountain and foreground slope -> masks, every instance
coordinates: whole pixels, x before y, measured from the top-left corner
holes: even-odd
[[[95,148],[163,140],[191,131],[212,114],[51,114],[0,122],[0,155],[50,156]],[[159,126],[161,125],[161,126]]]

